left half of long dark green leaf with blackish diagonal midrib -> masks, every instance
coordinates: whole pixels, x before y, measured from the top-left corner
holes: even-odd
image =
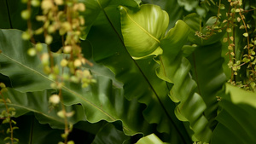
[[[129,100],[136,98],[139,102],[147,105],[143,115],[150,124],[158,124],[157,129],[160,132],[170,134],[175,127],[172,124],[172,117],[167,111],[173,115],[174,110],[165,110],[152,82],[149,82],[138,62],[133,60],[126,50],[121,35],[118,12],[116,7],[106,7],[91,26],[87,38],[93,47],[94,60],[108,66],[116,78],[124,84],[126,98]],[[167,96],[167,94],[163,96]],[[169,105],[173,106],[173,103],[171,102]],[[184,130],[183,124],[178,125],[176,131],[179,130]],[[181,135],[181,133],[172,133],[173,135],[177,134],[173,138],[179,142],[184,140],[183,143],[190,143],[188,138],[183,138],[183,136],[187,136]]]

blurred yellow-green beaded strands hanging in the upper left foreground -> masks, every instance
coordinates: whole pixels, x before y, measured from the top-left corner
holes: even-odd
[[[23,40],[30,40],[34,47],[27,50],[27,54],[34,57],[39,56],[42,61],[44,73],[53,81],[50,84],[52,89],[57,89],[58,94],[49,97],[49,109],[53,109],[61,102],[62,110],[57,115],[65,120],[65,133],[61,135],[65,144],[73,144],[73,141],[67,141],[67,136],[72,131],[72,124],[69,124],[67,118],[72,117],[74,112],[67,112],[63,105],[61,89],[65,86],[65,81],[82,84],[87,87],[90,83],[96,81],[92,78],[89,70],[84,69],[82,65],[92,66],[89,60],[86,60],[80,47],[80,37],[84,32],[84,17],[80,12],[84,12],[84,3],[77,0],[21,0],[27,4],[27,9],[21,11],[22,19],[27,20],[27,30],[22,33]],[[36,16],[36,20],[43,24],[36,30],[32,29],[32,7],[40,7],[42,14]],[[34,35],[44,35],[44,43],[36,42]],[[52,54],[50,44],[54,37],[61,37],[62,46],[58,54]],[[55,57],[62,57],[61,60],[55,60]]]

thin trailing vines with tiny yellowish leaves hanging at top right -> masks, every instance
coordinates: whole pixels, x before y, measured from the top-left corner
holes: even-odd
[[[228,63],[231,69],[230,84],[255,91],[256,39],[255,26],[251,24],[252,20],[255,19],[255,17],[251,17],[255,8],[246,8],[246,4],[241,0],[229,0],[228,8],[225,8],[221,0],[216,5],[218,5],[218,14],[213,25],[207,26],[209,32],[205,34],[196,32],[195,34],[203,39],[208,39],[216,32],[225,31],[223,43],[228,43],[227,49],[229,51],[226,55],[230,59]],[[237,37],[244,38],[241,42],[237,42]],[[241,66],[246,68],[241,69]]]

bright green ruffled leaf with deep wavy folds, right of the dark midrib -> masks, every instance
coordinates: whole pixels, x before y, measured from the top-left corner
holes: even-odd
[[[181,51],[188,34],[189,26],[180,20],[161,41],[163,55],[160,55],[158,75],[174,84],[170,96],[172,101],[179,102],[176,116],[182,121],[189,121],[190,128],[195,132],[195,141],[210,141],[212,130],[203,114],[207,106],[201,95],[195,93],[197,85],[189,76],[191,65]]]

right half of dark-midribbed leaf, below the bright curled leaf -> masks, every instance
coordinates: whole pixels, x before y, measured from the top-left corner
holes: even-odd
[[[159,64],[154,61],[152,57],[149,57],[147,59],[137,60],[138,66],[142,69],[144,75],[146,78],[148,78],[148,83],[152,85],[153,89],[155,90],[155,93],[157,94],[157,99],[160,101],[161,107],[163,107],[163,110],[168,113],[168,119],[166,118],[160,118],[162,119],[162,122],[170,121],[172,123],[172,129],[169,127],[166,127],[166,125],[160,125],[163,127],[160,127],[159,129],[163,130],[170,130],[170,135],[166,137],[161,137],[162,141],[168,141],[170,143],[180,143],[183,140],[188,140],[189,142],[189,135],[187,134],[186,130],[183,130],[183,123],[181,123],[174,114],[175,105],[173,105],[172,100],[169,98],[168,94],[170,89],[172,88],[172,84],[166,84],[165,81],[158,78],[155,74],[155,69],[159,67]],[[149,104],[148,106],[152,105],[154,107],[154,104]],[[159,108],[155,107],[153,109],[146,109],[143,113],[144,116],[150,119],[150,117],[155,117],[155,115],[151,115],[154,113],[157,113],[160,111]],[[163,117],[163,116],[161,116]],[[175,138],[176,135],[183,135],[183,140],[180,140],[179,138]],[[161,135],[159,135],[161,136]],[[183,141],[183,142],[185,142]]]

